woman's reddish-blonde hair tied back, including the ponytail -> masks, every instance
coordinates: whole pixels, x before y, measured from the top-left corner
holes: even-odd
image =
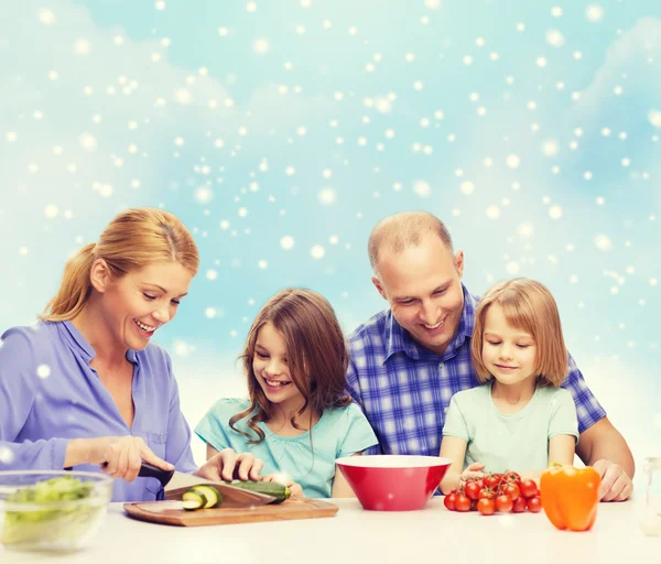
[[[89,274],[97,259],[104,259],[117,278],[156,262],[177,262],[193,275],[199,265],[195,241],[175,215],[150,207],[127,209],[110,221],[96,245],[86,245],[68,260],[43,321],[73,319],[83,311],[91,294]]]

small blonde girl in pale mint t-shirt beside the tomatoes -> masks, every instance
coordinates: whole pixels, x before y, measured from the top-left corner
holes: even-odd
[[[447,494],[481,470],[514,470],[539,480],[549,462],[572,464],[576,408],[560,388],[567,350],[557,305],[539,282],[514,279],[479,301],[470,341],[484,386],[453,395],[441,456],[453,460],[441,482]]]

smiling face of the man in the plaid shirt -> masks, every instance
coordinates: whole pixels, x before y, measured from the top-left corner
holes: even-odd
[[[464,254],[435,235],[399,252],[379,253],[372,283],[390,303],[398,323],[423,347],[442,355],[454,338],[464,311]]]

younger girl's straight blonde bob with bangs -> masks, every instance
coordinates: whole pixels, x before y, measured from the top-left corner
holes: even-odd
[[[559,387],[567,375],[568,365],[557,305],[545,285],[524,278],[496,284],[479,301],[470,341],[477,379],[485,383],[492,378],[483,362],[485,318],[492,304],[502,307],[509,325],[529,333],[534,339],[538,386]]]

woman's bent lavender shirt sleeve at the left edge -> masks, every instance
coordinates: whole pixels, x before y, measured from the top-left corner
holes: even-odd
[[[62,470],[67,438],[15,442],[40,389],[34,346],[19,329],[0,344],[0,469]]]

